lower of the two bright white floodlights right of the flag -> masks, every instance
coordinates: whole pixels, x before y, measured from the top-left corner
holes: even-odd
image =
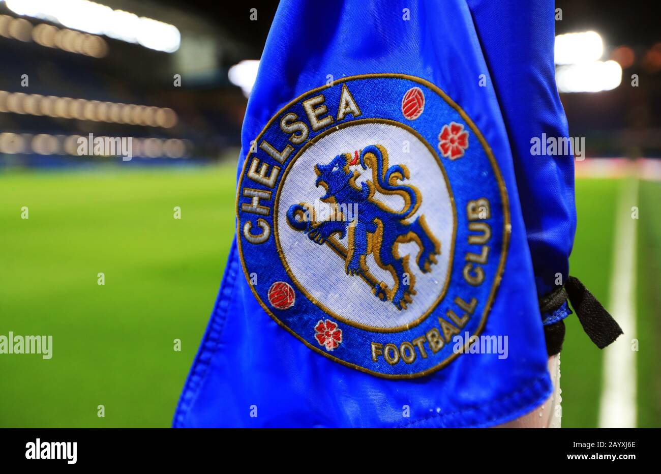
[[[560,92],[610,91],[622,82],[617,61],[592,61],[558,67],[555,79]]]

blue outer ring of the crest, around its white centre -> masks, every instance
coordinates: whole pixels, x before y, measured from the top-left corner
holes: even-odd
[[[321,128],[321,130],[313,131],[309,128],[309,136],[299,145],[294,145],[288,141],[289,135],[284,134],[280,130],[280,120],[282,120],[282,117],[293,112],[297,114],[299,120],[307,122],[301,102],[320,93],[325,97],[324,103],[328,108],[328,113],[334,116],[340,100],[342,85],[344,84],[348,85],[362,114],[358,117],[347,114],[340,122],[333,122],[331,125]],[[401,111],[401,99],[412,87],[420,87],[424,93],[424,113],[416,118],[416,120],[407,120]],[[313,301],[305,297],[298,290],[297,285],[292,281],[286,268],[282,265],[273,231],[274,201],[278,195],[282,180],[286,177],[286,173],[283,173],[283,171],[297,157],[299,151],[305,147],[308,141],[314,139],[319,134],[327,132],[327,130],[334,128],[338,124],[365,119],[400,122],[416,130],[418,135],[424,138],[433,149],[438,149],[438,135],[442,127],[446,124],[450,124],[451,122],[462,124],[464,130],[469,132],[469,147],[465,150],[463,157],[457,160],[442,158],[442,166],[446,171],[451,188],[451,196],[453,196],[455,201],[457,217],[454,258],[451,260],[452,265],[447,292],[426,319],[413,327],[399,332],[368,331],[350,323],[338,321],[338,319],[325,313]],[[262,139],[266,139],[268,143],[280,151],[286,145],[291,145],[293,151],[284,163],[277,163],[259,148]],[[475,311],[467,324],[460,329],[460,333],[461,336],[465,332],[468,332],[471,336],[479,335],[485,325],[488,311],[500,283],[506,259],[510,235],[508,198],[496,160],[481,132],[467,114],[453,100],[449,99],[443,91],[432,83],[424,81],[424,79],[408,75],[374,74],[339,79],[330,86],[308,91],[282,108],[268,122],[256,139],[255,149],[256,151],[249,153],[245,159],[243,171],[239,177],[237,192],[237,243],[241,264],[254,296],[264,311],[278,324],[297,336],[309,348],[332,360],[336,360],[336,362],[356,368],[357,370],[362,370],[363,372],[368,372],[369,374],[387,378],[420,377],[443,368],[459,356],[457,351],[453,350],[455,342],[452,340],[446,342],[443,348],[435,354],[432,352],[429,344],[425,342],[424,347],[427,357],[423,358],[418,348],[415,348],[416,359],[410,364],[407,364],[401,357],[399,358],[399,362],[394,365],[389,364],[383,356],[379,356],[377,362],[374,362],[371,354],[371,342],[377,342],[384,347],[386,344],[395,344],[397,348],[400,348],[402,342],[412,342],[415,338],[426,335],[433,328],[438,329],[440,335],[443,335],[439,318],[445,319],[448,323],[454,325],[446,315],[447,310],[452,309],[459,317],[463,315],[463,311],[454,303],[455,297],[461,297],[467,302],[470,302],[471,298],[477,299]],[[340,152],[344,152],[344,150],[338,151],[338,153]],[[273,166],[281,168],[281,172],[273,188],[267,188],[247,178],[247,170],[253,157],[257,157],[260,163],[267,163],[269,170]],[[332,157],[329,157],[329,161],[330,159]],[[394,163],[393,161],[390,164],[393,165]],[[412,182],[414,182],[413,180],[414,177],[412,177]],[[241,204],[243,202],[248,204],[250,202],[249,198],[243,197],[244,187],[271,192],[270,200],[260,200],[260,205],[270,208],[268,216],[258,216],[241,210]],[[424,190],[422,190],[422,194],[424,196]],[[479,254],[481,246],[469,245],[468,243],[468,237],[471,233],[469,233],[468,229],[467,204],[470,200],[479,198],[486,198],[490,203],[490,218],[486,219],[486,222],[490,225],[491,237],[487,243],[489,246],[488,261],[486,264],[480,265],[485,272],[485,279],[481,285],[471,286],[463,277],[463,267],[466,263],[465,255],[467,253]],[[262,218],[268,222],[271,234],[265,243],[255,245],[245,239],[243,225],[247,220],[250,220],[253,223],[253,232],[258,233],[259,229],[255,225],[258,218]],[[432,217],[427,217],[427,219],[430,218]],[[307,237],[301,235],[301,238],[309,242]],[[315,246],[315,244],[309,243],[311,246]],[[311,251],[314,250],[314,247],[311,247]],[[253,273],[257,275],[257,283],[255,285],[250,284],[250,275]],[[323,276],[320,276],[320,278],[323,278]],[[287,282],[294,288],[296,299],[293,307],[280,310],[268,303],[268,289],[277,281]],[[391,303],[384,302],[384,304]],[[338,348],[330,352],[319,345],[315,339],[315,326],[318,321],[325,321],[326,319],[331,319],[342,330],[342,343]],[[468,341],[464,342],[464,345],[467,345]]]

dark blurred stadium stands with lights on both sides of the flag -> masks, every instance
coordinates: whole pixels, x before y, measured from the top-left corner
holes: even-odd
[[[0,168],[121,161],[78,156],[75,139],[90,133],[133,137],[133,165],[235,159],[246,98],[228,71],[259,58],[278,2],[99,1],[108,8],[63,15],[56,7],[71,2],[0,0]],[[557,34],[599,32],[603,50],[594,61],[612,61],[621,74],[611,90],[561,94],[570,134],[586,138],[588,157],[661,156],[658,5],[650,5],[648,24],[621,2],[559,0],[557,7]],[[126,21],[112,20],[117,11]],[[559,76],[563,67],[574,66],[559,65]],[[594,85],[584,71],[563,81],[564,89]]]

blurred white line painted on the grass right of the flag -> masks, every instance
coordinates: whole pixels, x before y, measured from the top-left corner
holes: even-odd
[[[624,335],[603,349],[603,389],[599,410],[600,428],[635,428],[636,360],[631,340],[636,337],[636,231],[631,217],[638,206],[638,179],[628,178],[616,204],[615,241],[609,313]]]

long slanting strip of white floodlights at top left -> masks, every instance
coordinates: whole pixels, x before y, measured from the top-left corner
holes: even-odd
[[[151,50],[173,53],[181,42],[181,34],[173,24],[138,17],[89,0],[5,0],[5,3],[17,15],[57,22],[91,34],[104,34]]]

